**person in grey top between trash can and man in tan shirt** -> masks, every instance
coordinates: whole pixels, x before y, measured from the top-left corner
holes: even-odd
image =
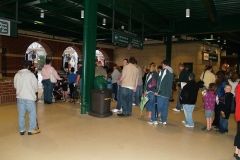
[[[114,100],[118,100],[118,84],[117,81],[121,77],[121,68],[117,65],[113,65],[113,73],[111,74],[112,76],[112,86],[113,86],[113,93],[114,93]]]

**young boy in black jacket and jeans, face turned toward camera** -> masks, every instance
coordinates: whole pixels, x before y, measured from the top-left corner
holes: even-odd
[[[232,86],[226,85],[224,88],[225,93],[219,98],[218,107],[220,109],[220,122],[219,133],[228,132],[228,119],[231,113],[231,105],[233,100],[233,94],[231,93]]]

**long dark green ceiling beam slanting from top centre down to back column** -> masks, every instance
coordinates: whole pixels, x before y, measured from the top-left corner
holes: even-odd
[[[161,25],[155,25],[155,24],[150,24],[150,23],[146,23],[146,21],[144,21],[142,18],[139,18],[133,14],[131,14],[130,12],[116,6],[113,5],[111,2],[107,1],[107,0],[98,0],[99,3],[101,3],[102,5],[105,5],[106,7],[109,7],[111,9],[114,9],[117,12],[120,12],[123,15],[126,15],[132,19],[135,19],[136,21],[145,24],[146,26],[149,26],[150,28],[158,31],[158,32],[163,32],[163,30],[160,29]],[[172,32],[170,29],[169,30],[164,30],[164,32]]]

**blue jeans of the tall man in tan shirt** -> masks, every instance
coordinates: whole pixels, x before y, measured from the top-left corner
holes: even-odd
[[[122,87],[121,100],[122,100],[123,114],[132,114],[132,96],[133,96],[133,90]]]

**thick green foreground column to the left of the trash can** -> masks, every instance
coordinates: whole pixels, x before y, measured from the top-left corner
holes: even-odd
[[[83,78],[81,114],[92,108],[90,89],[93,88],[95,76],[97,5],[96,0],[84,0],[83,31]]]

